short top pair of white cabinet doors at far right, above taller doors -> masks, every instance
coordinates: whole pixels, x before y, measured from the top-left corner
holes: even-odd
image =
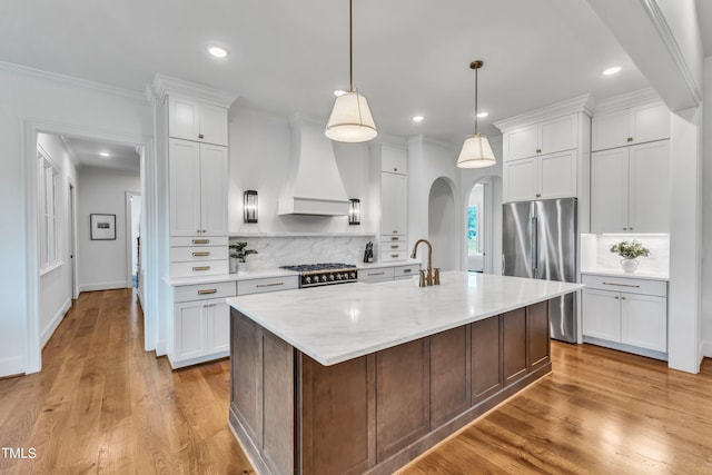
[[[591,149],[606,150],[670,138],[670,111],[660,101],[596,115]]]

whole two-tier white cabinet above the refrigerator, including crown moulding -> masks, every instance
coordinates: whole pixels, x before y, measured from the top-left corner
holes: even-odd
[[[497,122],[503,201],[582,198],[591,137],[589,96]]]

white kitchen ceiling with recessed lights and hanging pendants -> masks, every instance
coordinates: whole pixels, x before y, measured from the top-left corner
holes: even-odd
[[[208,43],[230,55],[209,58]],[[474,59],[490,135],[583,93],[647,87],[585,0],[354,0],[354,82],[384,133],[458,146],[474,127]],[[4,1],[0,60],[135,91],[160,72],[326,119],[332,91],[348,88],[348,1]],[[602,76],[611,65],[623,71]]]

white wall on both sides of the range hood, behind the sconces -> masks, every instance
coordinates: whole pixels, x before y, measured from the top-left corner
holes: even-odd
[[[230,234],[372,232],[369,220],[349,226],[346,216],[278,216],[277,200],[287,184],[291,152],[288,119],[234,106],[229,117]],[[334,144],[336,164],[349,198],[368,206],[368,145]],[[243,192],[258,192],[258,222],[243,222]]]

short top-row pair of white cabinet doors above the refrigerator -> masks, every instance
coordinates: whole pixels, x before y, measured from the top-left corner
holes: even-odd
[[[516,160],[571,150],[576,148],[577,137],[575,115],[532,123],[504,133],[504,157]]]

